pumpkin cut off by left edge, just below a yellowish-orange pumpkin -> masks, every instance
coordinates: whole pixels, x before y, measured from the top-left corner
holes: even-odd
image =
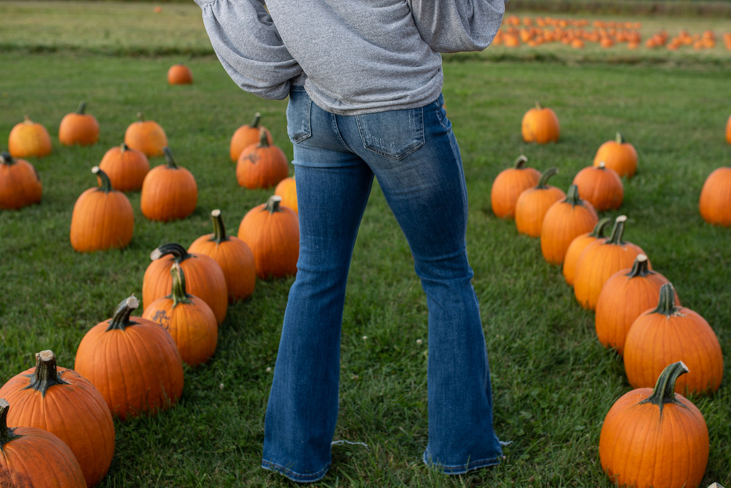
[[[41,201],[43,185],[35,167],[10,153],[0,153],[0,208],[16,210]]]

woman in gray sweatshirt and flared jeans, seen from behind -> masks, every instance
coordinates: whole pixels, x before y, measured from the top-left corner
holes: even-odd
[[[284,99],[300,257],[289,291],[262,467],[322,479],[338,414],[346,279],[373,178],[414,256],[428,305],[429,441],[461,474],[500,462],[488,357],[466,256],[467,195],[439,53],[482,50],[503,0],[196,0],[244,90]]]

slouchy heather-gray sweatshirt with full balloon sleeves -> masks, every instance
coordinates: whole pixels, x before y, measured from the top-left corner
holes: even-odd
[[[439,53],[488,47],[506,0],[195,0],[232,80],[266,99],[304,85],[342,115],[421,107],[442,91]]]

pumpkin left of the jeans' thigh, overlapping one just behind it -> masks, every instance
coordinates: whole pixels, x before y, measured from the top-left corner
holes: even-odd
[[[289,175],[289,164],[284,151],[269,143],[267,132],[262,131],[258,144],[243,148],[236,162],[236,180],[239,186],[273,188]]]

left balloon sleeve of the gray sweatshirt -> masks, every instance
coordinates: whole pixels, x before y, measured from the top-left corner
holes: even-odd
[[[302,74],[281,41],[262,0],[194,0],[213,50],[228,75],[245,91],[284,99]]]

